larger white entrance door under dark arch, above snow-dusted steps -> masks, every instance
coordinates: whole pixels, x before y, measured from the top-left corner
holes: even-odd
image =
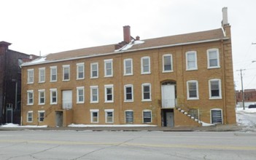
[[[175,87],[174,85],[162,85],[162,107],[174,108],[175,107]]]

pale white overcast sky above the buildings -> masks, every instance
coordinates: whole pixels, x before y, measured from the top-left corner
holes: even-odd
[[[141,39],[207,31],[221,27],[222,7],[228,7],[236,89],[241,68],[244,89],[255,89],[255,0],[0,0],[0,41],[18,52],[47,55],[116,44],[124,25]]]

